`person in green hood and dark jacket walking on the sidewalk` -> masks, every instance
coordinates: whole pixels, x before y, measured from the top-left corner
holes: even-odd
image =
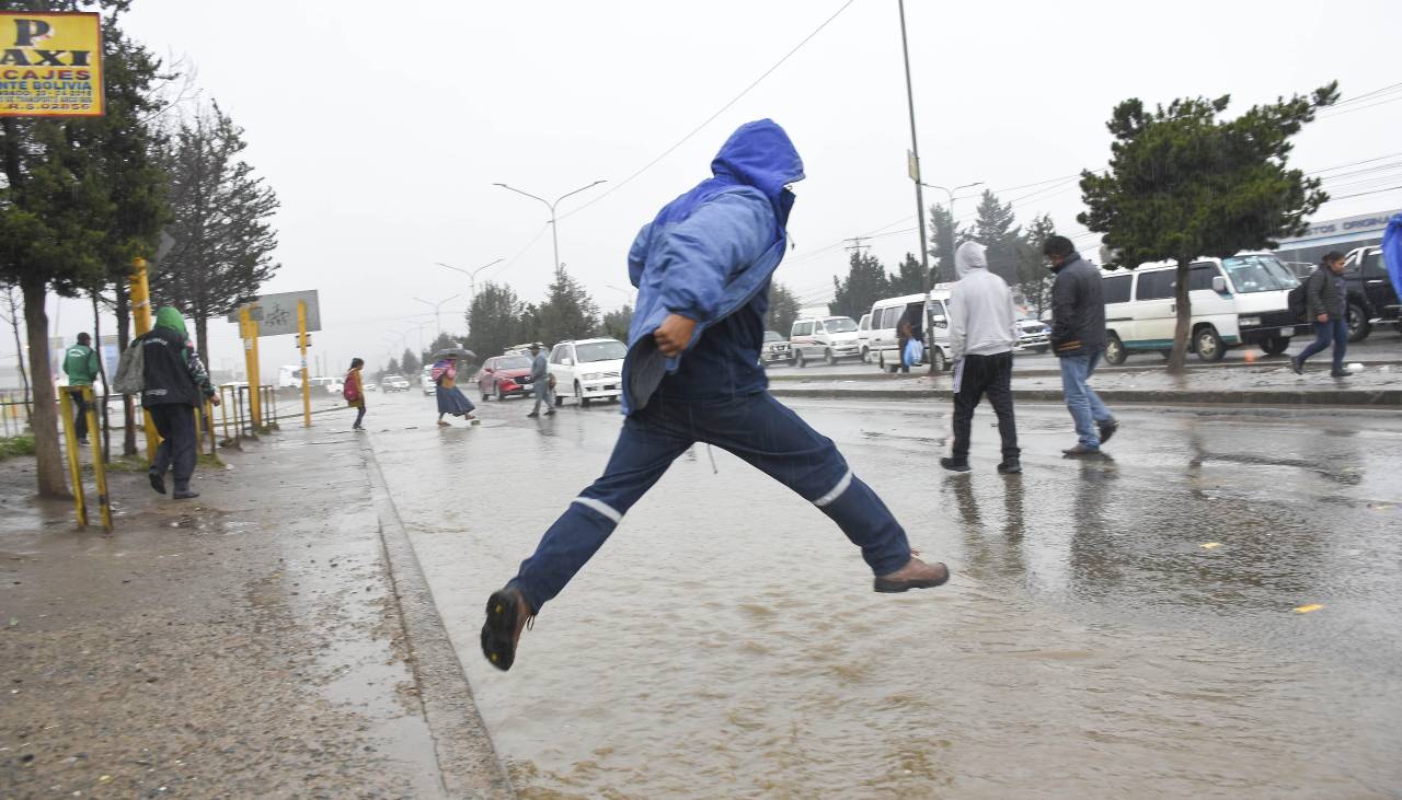
[[[132,346],[142,347],[142,408],[151,416],[161,444],[147,478],[151,489],[165,493],[165,472],[175,472],[177,500],[199,497],[189,488],[195,474],[198,441],[195,440],[195,409],[203,408],[205,398],[219,405],[209,373],[185,333],[185,318],[170,305],[156,312],[156,326],[137,336]]]

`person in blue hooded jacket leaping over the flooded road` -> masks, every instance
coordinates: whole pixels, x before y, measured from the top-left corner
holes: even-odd
[[[604,544],[628,509],[695,443],[729,450],[823,510],[862,549],[876,591],[949,579],[916,558],[906,531],[852,475],[833,441],[767,391],[760,364],[770,277],[784,258],[803,163],[782,127],[742,125],[702,181],[644,226],[628,254],[638,308],[622,367],[618,444],[601,478],[492,593],[482,654],[509,670],[526,622]]]

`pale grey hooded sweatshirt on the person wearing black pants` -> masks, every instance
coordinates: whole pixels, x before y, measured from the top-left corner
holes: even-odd
[[[967,241],[955,252],[959,280],[949,290],[949,356],[1008,353],[1018,343],[1016,310],[1008,283],[988,272],[986,248]]]

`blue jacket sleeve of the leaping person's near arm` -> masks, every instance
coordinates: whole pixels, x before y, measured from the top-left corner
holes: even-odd
[[[725,283],[774,238],[774,209],[757,192],[726,192],[679,223],[658,251],[662,304],[708,324],[721,311]]]

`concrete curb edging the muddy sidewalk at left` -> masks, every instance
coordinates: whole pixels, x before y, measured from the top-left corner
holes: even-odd
[[[404,625],[409,664],[419,689],[419,702],[433,734],[443,787],[449,797],[516,797],[506,768],[496,755],[492,737],[477,710],[472,687],[439,616],[414,544],[409,542],[400,513],[374,451],[362,448],[376,513],[380,517],[380,541],[388,562],[390,583]]]

